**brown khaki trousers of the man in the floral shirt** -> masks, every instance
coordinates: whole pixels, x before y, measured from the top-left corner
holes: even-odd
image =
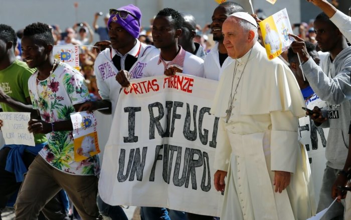
[[[15,204],[16,219],[37,219],[44,205],[63,188],[83,220],[96,219],[98,179],[71,175],[48,164],[38,155],[29,167]]]

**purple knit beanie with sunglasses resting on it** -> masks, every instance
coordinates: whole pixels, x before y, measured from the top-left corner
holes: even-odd
[[[128,14],[132,14],[134,16],[128,15],[127,18],[122,19],[119,17],[119,14],[117,15],[111,15],[110,18],[108,19],[107,22],[107,27],[110,26],[111,22],[118,23],[120,26],[122,26],[131,36],[134,38],[139,37],[139,32],[140,32],[140,26],[139,24],[141,23],[141,12],[140,9],[132,4],[123,6],[117,11],[125,11],[128,12]],[[135,19],[137,18],[137,20]]]

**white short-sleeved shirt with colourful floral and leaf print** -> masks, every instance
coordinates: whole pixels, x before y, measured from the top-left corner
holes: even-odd
[[[71,120],[70,114],[76,112],[73,105],[89,101],[89,92],[82,74],[65,63],[45,80],[38,80],[38,71],[28,81],[29,94],[33,108],[39,109],[45,122]],[[55,128],[54,128],[55,130]],[[69,174],[96,175],[100,171],[99,157],[74,160],[72,131],[54,131],[40,152],[50,165]]]

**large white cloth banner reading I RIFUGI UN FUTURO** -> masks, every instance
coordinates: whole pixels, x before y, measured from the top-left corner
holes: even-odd
[[[105,146],[102,200],[219,216],[213,162],[224,138],[209,114],[218,82],[185,74],[130,82]]]

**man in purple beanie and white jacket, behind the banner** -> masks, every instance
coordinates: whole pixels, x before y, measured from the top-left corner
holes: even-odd
[[[111,42],[99,42],[98,46],[111,44],[112,48],[106,48],[96,58],[94,71],[97,79],[100,101],[88,102],[82,105],[80,111],[91,112],[100,108],[104,114],[115,113],[115,107],[121,89],[120,84],[115,80],[118,72],[128,71],[128,78],[141,78],[143,68],[153,57],[158,56],[159,51],[150,45],[143,44],[137,39],[140,32],[141,12],[134,5],[123,6],[119,9],[110,9],[110,18],[107,23],[108,34]],[[103,187],[103,186],[102,186]],[[127,219],[120,206],[110,206],[97,198],[100,212],[114,219]],[[158,208],[159,209],[159,208]],[[167,210],[164,208],[164,214]],[[166,218],[161,218],[166,219]]]

